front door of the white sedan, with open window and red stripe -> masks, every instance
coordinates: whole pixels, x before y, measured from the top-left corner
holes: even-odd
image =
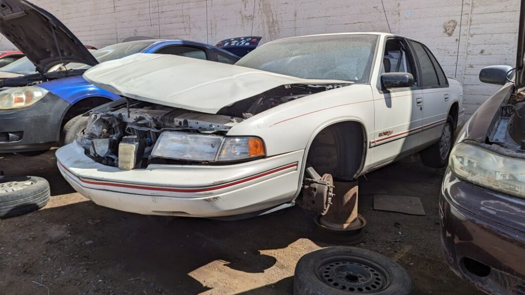
[[[375,134],[370,146],[376,165],[396,159],[417,148],[422,127],[422,90],[414,57],[403,38],[387,38],[382,52],[380,77],[385,72],[408,72],[414,86],[384,89],[379,77],[374,91]]]

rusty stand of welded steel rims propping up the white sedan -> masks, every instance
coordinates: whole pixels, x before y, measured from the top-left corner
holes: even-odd
[[[355,245],[364,239],[366,219],[358,214],[358,181],[335,183],[330,210],[316,216],[316,236],[333,244]]]

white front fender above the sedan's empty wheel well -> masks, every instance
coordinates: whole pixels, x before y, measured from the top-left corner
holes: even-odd
[[[365,138],[373,136],[374,101],[370,85],[327,90],[281,104],[235,125],[228,135],[260,137],[265,142],[267,156],[302,150],[298,169],[303,172],[303,163],[316,135],[332,124],[345,121],[360,123]],[[368,148],[366,145],[365,155]],[[298,187],[301,181],[298,180]]]

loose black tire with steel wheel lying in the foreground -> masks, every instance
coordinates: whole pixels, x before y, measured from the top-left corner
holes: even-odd
[[[294,295],[405,295],[412,280],[396,262],[365,249],[328,247],[304,255],[293,277]]]

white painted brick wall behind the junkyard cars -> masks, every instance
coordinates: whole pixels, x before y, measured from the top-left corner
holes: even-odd
[[[269,41],[307,34],[388,31],[390,25],[392,33],[425,43],[447,75],[464,83],[467,114],[498,89],[480,83],[479,70],[488,65],[513,65],[516,60],[519,0],[33,2],[62,20],[83,43],[99,48],[130,36],[215,44],[228,37],[248,35]],[[13,46],[2,37],[0,49]]]

